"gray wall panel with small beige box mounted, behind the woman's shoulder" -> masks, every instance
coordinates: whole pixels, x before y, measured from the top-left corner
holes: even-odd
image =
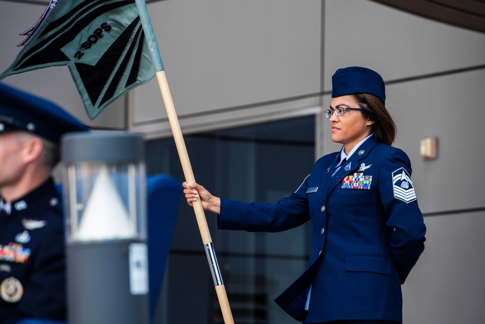
[[[423,212],[484,207],[485,69],[388,87]],[[420,139],[438,137],[438,158],[420,157]]]

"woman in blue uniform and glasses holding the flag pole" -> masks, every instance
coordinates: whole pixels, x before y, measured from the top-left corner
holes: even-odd
[[[385,99],[375,71],[337,70],[325,116],[343,147],[277,204],[218,198],[183,183],[189,205],[200,198],[219,214],[220,229],[275,232],[311,221],[308,269],[275,300],[303,323],[402,323],[401,285],[424,250],[426,227],[409,158],[390,146],[396,128]]]

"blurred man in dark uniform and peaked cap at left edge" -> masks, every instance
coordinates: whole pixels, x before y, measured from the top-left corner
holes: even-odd
[[[57,105],[0,84],[0,323],[66,320],[60,137],[87,127]]]

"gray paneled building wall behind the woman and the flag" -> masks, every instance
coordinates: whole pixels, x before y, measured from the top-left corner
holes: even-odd
[[[0,70],[46,1],[0,0]],[[186,133],[315,114],[330,104],[337,68],[365,66],[387,83],[395,146],[408,153],[428,227],[426,249],[403,286],[405,323],[478,323],[485,228],[485,34],[369,0],[164,0],[148,10]],[[65,107],[97,128],[169,137],[155,80],[89,121],[66,67],[4,82]],[[317,122],[317,155],[339,149]],[[424,161],[420,139],[438,137]]]

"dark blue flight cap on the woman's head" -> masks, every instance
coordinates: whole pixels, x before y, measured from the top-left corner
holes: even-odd
[[[386,102],[386,90],[381,76],[369,68],[339,68],[332,76],[332,98],[370,93]]]

